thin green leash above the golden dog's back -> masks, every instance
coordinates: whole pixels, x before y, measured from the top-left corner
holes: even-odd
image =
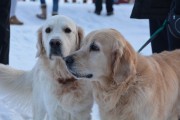
[[[158,28],[152,35],[151,37],[144,43],[144,45],[138,50],[138,53],[140,53],[150,42],[153,41],[153,39],[165,28],[167,24],[167,20],[164,21],[163,25]]]

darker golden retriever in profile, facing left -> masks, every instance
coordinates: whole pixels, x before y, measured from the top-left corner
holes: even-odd
[[[178,120],[180,50],[143,56],[102,29],[65,61],[78,79],[92,80],[101,120]]]

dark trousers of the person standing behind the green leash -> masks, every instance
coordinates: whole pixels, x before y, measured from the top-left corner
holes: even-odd
[[[162,26],[165,19],[150,19],[150,35],[152,35],[158,28]],[[180,39],[175,38],[169,32],[166,26],[155,39],[151,42],[152,53],[160,53],[162,51],[171,51],[180,48]]]

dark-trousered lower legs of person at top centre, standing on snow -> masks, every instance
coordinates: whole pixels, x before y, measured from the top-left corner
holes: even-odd
[[[100,15],[102,11],[102,2],[103,0],[95,0],[95,11],[96,15]],[[113,15],[113,0],[106,0],[106,11],[107,16]]]

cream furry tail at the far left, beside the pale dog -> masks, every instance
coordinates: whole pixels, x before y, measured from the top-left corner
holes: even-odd
[[[0,64],[0,98],[21,114],[32,113],[31,71]]]

